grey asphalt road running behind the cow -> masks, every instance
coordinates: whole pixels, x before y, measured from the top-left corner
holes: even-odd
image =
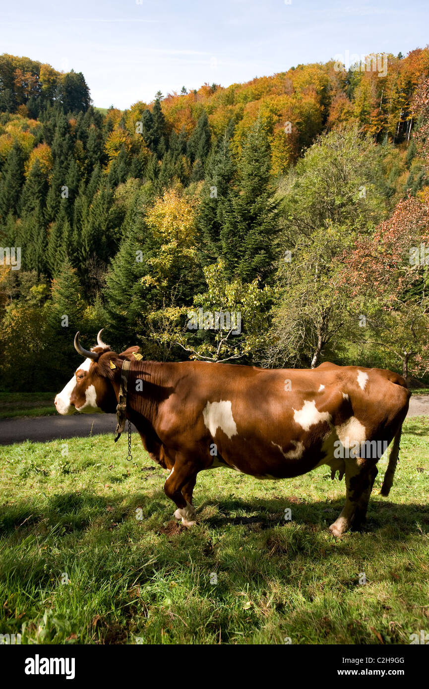
[[[429,395],[414,395],[408,416],[429,416]],[[128,426],[127,426],[128,427]],[[47,442],[56,438],[85,438],[88,435],[112,433],[115,414],[73,414],[72,416],[39,416],[0,420],[0,445],[23,440]]]

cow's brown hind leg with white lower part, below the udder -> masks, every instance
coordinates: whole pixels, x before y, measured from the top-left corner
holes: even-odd
[[[339,537],[346,533],[352,525],[355,513],[359,515],[359,518],[361,518],[363,511],[366,514],[372,484],[376,475],[373,476],[371,484],[370,469],[372,468],[375,467],[368,466],[368,460],[361,458],[346,460],[346,504],[338,519],[329,527],[329,531],[333,535]]]

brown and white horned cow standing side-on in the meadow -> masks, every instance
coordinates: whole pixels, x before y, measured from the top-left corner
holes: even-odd
[[[366,517],[381,455],[368,447],[385,449],[394,440],[381,488],[388,495],[410,399],[397,373],[328,362],[282,370],[147,362],[134,357],[139,347],[117,354],[100,333],[97,342],[91,351],[83,349],[77,333],[74,346],[86,360],[55,406],[61,414],[114,413],[121,367],[130,360],[127,418],[150,457],[170,470],[164,491],[186,526],[195,523],[192,491],[203,469],[229,466],[283,479],[327,464],[332,478],[336,471],[340,479],[346,474],[346,504],[330,526],[340,536]]]

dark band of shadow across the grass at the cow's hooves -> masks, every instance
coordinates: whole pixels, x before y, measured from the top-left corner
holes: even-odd
[[[335,522],[344,505],[344,497],[326,501],[307,501],[292,497],[255,498],[243,500],[239,497],[212,498],[201,496],[196,502],[197,522],[208,529],[228,525],[248,526],[253,531],[290,524],[323,531]],[[156,515],[160,524],[170,520],[174,505],[163,491],[152,491],[150,495],[136,492],[132,495],[108,497],[90,491],[74,491],[56,494],[44,502],[30,499],[0,506],[0,535],[12,533],[28,535],[59,529],[61,533],[79,533],[94,524],[99,528],[110,528],[132,517],[136,508],[141,508],[144,517]],[[215,514],[210,514],[213,511]],[[289,512],[290,511],[290,512]],[[208,513],[208,514],[207,514]],[[429,506],[416,502],[397,504],[386,500],[370,500],[367,522],[361,531],[371,533],[379,529],[395,533],[395,538],[406,538],[412,533],[429,533]]]

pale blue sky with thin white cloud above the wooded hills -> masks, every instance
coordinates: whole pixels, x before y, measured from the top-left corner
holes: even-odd
[[[346,51],[406,55],[429,41],[428,0],[20,0],[3,6],[0,52],[83,72],[94,105],[121,110],[149,103],[158,90],[228,86]]]

